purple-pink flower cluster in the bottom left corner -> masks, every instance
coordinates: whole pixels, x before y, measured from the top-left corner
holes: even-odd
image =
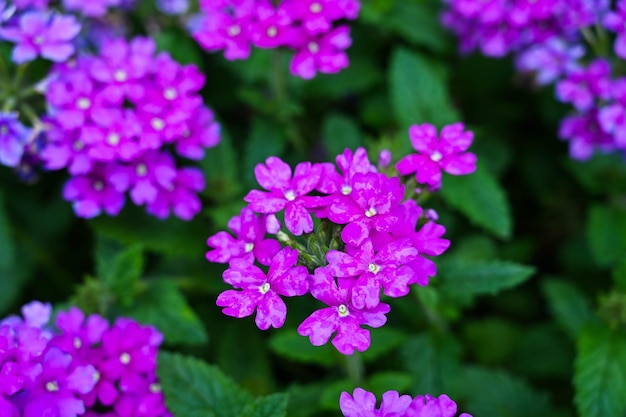
[[[72,307],[48,326],[49,304],[0,322],[0,414],[168,417],[156,379],[162,336],[130,319],[112,326]]]

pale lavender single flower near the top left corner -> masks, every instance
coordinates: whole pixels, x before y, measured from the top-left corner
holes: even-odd
[[[17,64],[39,55],[64,62],[74,53],[71,41],[78,32],[80,24],[72,16],[33,11],[20,16],[19,27],[0,28],[0,38],[17,43],[12,56]]]

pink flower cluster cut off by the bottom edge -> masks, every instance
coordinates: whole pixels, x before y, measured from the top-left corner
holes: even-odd
[[[397,391],[385,392],[377,409],[376,396],[363,388],[355,388],[352,395],[342,392],[339,406],[344,417],[454,417],[457,410],[456,403],[445,394],[411,398]],[[472,416],[461,413],[459,417]]]

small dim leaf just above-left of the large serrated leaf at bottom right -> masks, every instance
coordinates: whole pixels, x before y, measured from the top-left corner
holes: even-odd
[[[580,329],[594,318],[591,303],[574,284],[563,280],[544,280],[541,285],[556,322],[574,340]]]

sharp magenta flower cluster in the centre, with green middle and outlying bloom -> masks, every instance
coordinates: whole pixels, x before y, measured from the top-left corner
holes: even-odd
[[[397,170],[415,173],[430,190],[441,186],[442,170],[463,175],[476,169],[476,156],[466,152],[473,134],[461,123],[444,127],[439,137],[428,124],[412,126],[409,134],[418,153],[402,158]],[[277,328],[287,313],[280,296],[310,293],[326,307],[298,332],[316,346],[336,332],[332,343],[343,354],[366,350],[370,334],[362,326],[381,327],[390,311],[381,292],[402,297],[412,284],[427,285],[436,273],[427,256],[450,244],[432,210],[427,214],[405,198],[400,177],[382,172],[389,159],[385,152],[377,168],[359,148],[338,155],[336,166],[302,162],[292,171],[277,157],[257,165],[265,191],[244,197],[248,206],[228,223],[235,237],[219,232],[207,242],[207,259],[228,262],[223,278],[236,288],[217,299],[224,313],[246,317],[256,311],[260,329]]]

